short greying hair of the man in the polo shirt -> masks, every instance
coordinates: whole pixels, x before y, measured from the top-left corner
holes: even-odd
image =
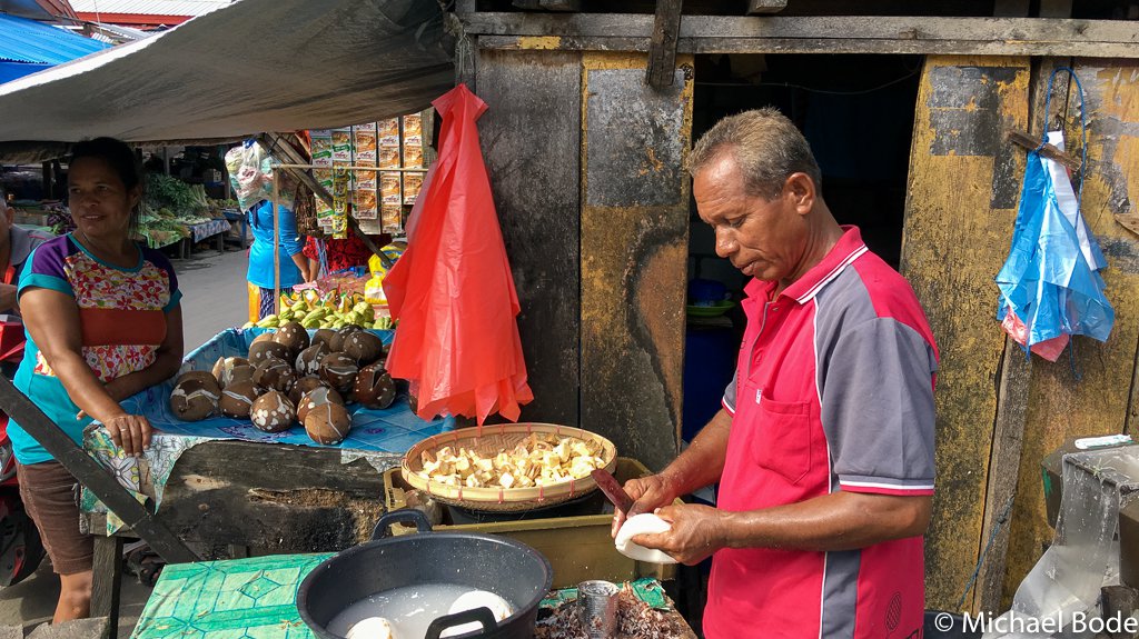
[[[822,184],[819,163],[798,128],[778,109],[765,107],[726,117],[708,130],[688,155],[695,177],[721,153],[731,153],[744,173],[747,193],[772,200],[794,173],[805,173],[814,188]]]

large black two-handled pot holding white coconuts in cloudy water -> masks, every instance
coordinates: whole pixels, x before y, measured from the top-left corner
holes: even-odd
[[[391,525],[413,522],[417,532],[391,537]],[[329,557],[301,582],[296,607],[301,619],[321,639],[343,639],[328,623],[352,604],[385,590],[424,583],[468,586],[506,599],[514,614],[494,621],[481,607],[432,622],[426,639],[439,639],[448,628],[470,622],[482,630],[464,639],[532,639],[538,605],[550,590],[550,563],[525,543],[472,532],[432,532],[431,522],[413,508],[393,511],[379,518],[371,541]]]

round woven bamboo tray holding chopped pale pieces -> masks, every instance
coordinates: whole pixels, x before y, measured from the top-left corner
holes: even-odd
[[[423,470],[423,453],[432,455],[444,446],[468,448],[484,456],[509,451],[531,433],[554,434],[563,438],[593,440],[601,445],[600,457],[605,470],[613,472],[617,462],[617,449],[608,439],[589,431],[557,424],[500,424],[483,428],[459,429],[429,437],[411,447],[403,456],[401,472],[411,487],[431,493],[435,500],[450,506],[473,511],[522,512],[532,508],[555,506],[576,499],[597,489],[593,478],[585,476],[551,486],[531,488],[467,488],[428,481],[419,474]]]

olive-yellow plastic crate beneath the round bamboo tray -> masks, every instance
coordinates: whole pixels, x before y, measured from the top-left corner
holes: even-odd
[[[624,483],[648,475],[649,471],[637,459],[617,457],[617,467],[613,474],[618,482]],[[384,505],[388,511],[407,506],[403,499],[407,490],[410,487],[400,475],[400,468],[384,473]],[[680,500],[677,503],[680,504]],[[554,588],[570,588],[590,579],[618,583],[642,576],[659,581],[675,579],[675,564],[634,562],[617,553],[613,547],[613,538],[609,537],[612,523],[613,515],[600,514],[459,525],[444,521],[435,530],[501,534],[522,541],[550,561],[554,566]],[[393,526],[393,534],[409,534],[413,530],[396,525]]]

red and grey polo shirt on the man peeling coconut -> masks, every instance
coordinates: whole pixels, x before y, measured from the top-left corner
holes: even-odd
[[[755,511],[834,491],[932,495],[937,349],[909,283],[846,227],[772,299],[752,281],[718,507]],[[710,639],[920,637],[920,537],[830,553],[715,554]]]

